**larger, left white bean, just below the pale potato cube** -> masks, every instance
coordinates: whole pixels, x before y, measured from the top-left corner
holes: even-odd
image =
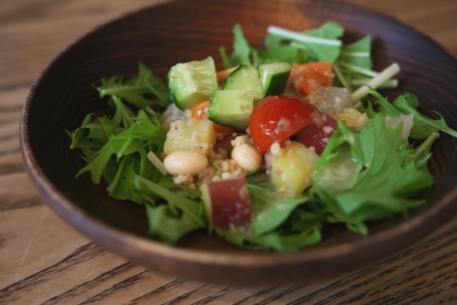
[[[175,150],[164,159],[165,170],[173,176],[198,175],[208,165],[205,155],[190,150]]]

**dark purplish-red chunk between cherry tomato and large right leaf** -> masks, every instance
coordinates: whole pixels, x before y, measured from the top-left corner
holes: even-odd
[[[321,113],[321,120],[316,120],[315,123],[308,129],[303,139],[300,141],[306,147],[314,147],[316,154],[321,155],[325,145],[329,143],[329,139],[336,129],[338,122],[334,118]]]

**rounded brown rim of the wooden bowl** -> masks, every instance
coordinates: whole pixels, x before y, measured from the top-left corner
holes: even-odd
[[[156,241],[145,236],[133,234],[121,229],[117,229],[96,219],[91,214],[81,209],[71,200],[65,197],[57,187],[44,175],[43,170],[38,165],[38,162],[33,155],[32,148],[29,141],[28,134],[28,116],[30,104],[32,102],[34,93],[40,85],[41,80],[47,74],[48,70],[64,53],[72,48],[77,43],[80,43],[85,37],[96,32],[102,27],[110,25],[112,22],[122,20],[125,17],[134,15],[140,11],[149,10],[151,8],[172,5],[175,2],[181,1],[168,1],[158,5],[142,7],[138,10],[130,11],[126,14],[111,19],[101,25],[94,27],[91,31],[85,33],[80,38],[76,39],[74,43],[69,44],[66,48],[60,51],[40,73],[28,93],[26,102],[24,104],[21,122],[20,122],[20,145],[21,155],[24,166],[27,170],[33,185],[37,188],[40,195],[44,198],[45,202],[63,218],[68,224],[73,226],[82,234],[88,236],[92,241],[95,241],[100,246],[116,252],[124,257],[128,257],[135,261],[143,261],[142,254],[157,255],[161,257],[168,257],[176,261],[195,262],[201,265],[220,265],[220,266],[236,266],[236,267],[267,267],[267,266],[280,266],[280,265],[298,265],[303,263],[313,263],[320,261],[327,261],[329,259],[337,259],[354,253],[356,251],[367,251],[369,249],[382,246],[384,243],[393,243],[394,251],[399,251],[402,248],[412,245],[414,242],[424,238],[433,230],[441,226],[444,221],[450,219],[457,211],[457,185],[452,188],[443,198],[428,207],[426,210],[410,219],[405,219],[401,223],[394,225],[388,229],[381,230],[366,238],[361,238],[356,241],[345,242],[338,245],[329,245],[323,248],[309,247],[306,251],[301,251],[293,254],[283,254],[278,252],[257,253],[252,251],[250,253],[223,253],[213,252],[198,249],[189,249],[179,246],[171,246],[161,241]],[[356,7],[359,10],[371,12],[378,16],[383,16],[391,21],[398,23],[402,27],[408,27],[410,30],[425,37],[429,42],[435,43],[440,47],[443,52],[451,55],[446,48],[440,43],[437,43],[430,37],[417,31],[403,22],[397,20],[392,16],[383,13],[354,5],[350,3],[340,3],[338,1],[329,1],[337,5]],[[451,55],[452,56],[452,55]],[[455,204],[452,204],[455,202]],[[449,213],[445,213],[445,212]],[[439,221],[441,220],[441,221]],[[418,231],[420,234],[409,235],[411,231]],[[119,249],[119,246],[121,248]],[[136,251],[132,251],[136,249]],[[393,254],[394,251],[388,251],[388,254]],[[381,251],[382,252],[382,251]],[[253,255],[256,254],[256,255]],[[378,258],[385,257],[381,254]],[[372,260],[372,262],[376,261]]]

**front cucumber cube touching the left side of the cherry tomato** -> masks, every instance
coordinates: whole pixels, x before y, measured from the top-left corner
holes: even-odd
[[[210,121],[234,129],[248,128],[249,117],[254,107],[252,91],[215,90],[210,103]]]

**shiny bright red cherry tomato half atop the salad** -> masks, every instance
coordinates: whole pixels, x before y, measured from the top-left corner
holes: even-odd
[[[254,107],[249,130],[262,152],[282,142],[321,114],[314,105],[293,96],[267,96]]]

